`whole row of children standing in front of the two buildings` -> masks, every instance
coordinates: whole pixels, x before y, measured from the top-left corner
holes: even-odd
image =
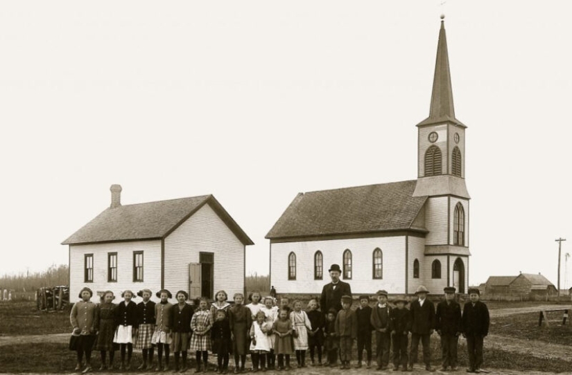
[[[469,289],[471,302],[465,304],[461,314],[456,302],[455,289],[445,288],[445,299],[437,304],[426,299],[428,291],[420,286],[415,293],[417,300],[406,309],[407,301],[397,299],[395,308],[388,304],[388,293],[378,291],[377,303],[370,307],[370,296],[361,295],[359,307],[351,309],[352,297],[342,298],[342,309],[319,311],[317,300],[309,301],[306,311],[302,302],[295,300],[292,307],[287,298],[281,298],[279,305],[275,298],[262,298],[253,291],[249,304],[244,304],[241,293],[234,295],[230,304],[227,293],[218,291],[209,306],[207,298],[196,304],[187,303],[185,291],[175,294],[176,304],[168,302],[171,292],[163,289],[156,293],[160,302],[151,301],[152,292],[139,291],[139,304],[131,291],[123,291],[123,302],[114,304],[114,294],[106,291],[101,303],[90,302],[92,291],[80,291],[80,302],[73,305],[70,315],[76,338],[76,371],[92,372],[92,350],[101,354],[100,370],[112,369],[114,352],[119,349],[119,369],[131,368],[132,351],[141,349],[143,361],[137,369],[173,372],[187,371],[188,351],[196,354],[196,372],[207,372],[209,351],[216,354],[217,372],[229,371],[229,356],[234,356],[234,373],[245,371],[246,356],[252,359],[252,372],[267,369],[291,369],[291,355],[295,354],[297,367],[306,367],[306,351],[309,350],[312,365],[322,365],[322,348],[326,361],[323,365],[349,369],[352,360],[352,346],[357,340],[358,362],[362,367],[363,351],[366,351],[366,367],[372,362],[372,331],[376,333],[376,361],[378,370],[388,369],[390,349],[393,347],[393,369],[401,365],[402,371],[412,371],[417,357],[419,341],[423,345],[424,363],[430,365],[430,337],[433,330],[441,336],[442,370],[457,369],[458,337],[467,337],[469,369],[480,372],[483,363],[483,338],[488,333],[489,314],[485,304],[479,301],[478,289]],[[411,333],[411,348],[408,353],[408,334]],[[153,356],[157,348],[157,362]],[[173,351],[174,367],[169,367],[169,352]],[[109,356],[107,357],[107,354]],[[317,354],[317,361],[315,360]],[[108,362],[107,362],[108,358]],[[277,358],[277,361],[276,361]],[[182,363],[181,363],[182,360]],[[277,362],[277,363],[276,363]]]

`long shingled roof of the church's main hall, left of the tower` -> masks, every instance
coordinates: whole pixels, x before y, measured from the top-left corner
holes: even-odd
[[[417,230],[427,196],[413,196],[416,180],[298,194],[267,239]]]

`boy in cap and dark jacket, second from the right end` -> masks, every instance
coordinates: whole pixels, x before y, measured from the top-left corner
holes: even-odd
[[[435,313],[435,329],[441,336],[441,354],[443,363],[440,371],[457,370],[457,347],[461,328],[461,307],[455,300],[456,289],[447,286],[443,289],[445,300],[437,304]]]

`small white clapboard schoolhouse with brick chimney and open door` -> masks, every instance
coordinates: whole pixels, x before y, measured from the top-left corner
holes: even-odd
[[[121,186],[110,190],[110,207],[62,242],[72,299],[84,286],[94,302],[106,290],[118,298],[143,288],[191,298],[244,292],[245,249],[254,243],[214,196],[121,205]]]

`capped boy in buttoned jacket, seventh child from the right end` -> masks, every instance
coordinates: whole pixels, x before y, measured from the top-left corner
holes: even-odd
[[[352,360],[352,346],[358,333],[358,319],[356,312],[350,309],[352,297],[342,297],[342,309],[336,316],[336,336],[340,338],[340,369],[349,369]]]

